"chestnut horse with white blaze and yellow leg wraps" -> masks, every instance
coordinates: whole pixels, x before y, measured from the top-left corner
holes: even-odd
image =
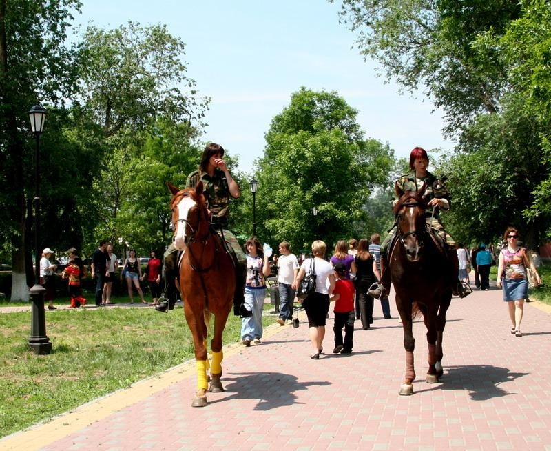
[[[180,259],[180,294],[191,335],[194,338],[197,392],[191,405],[207,405],[207,390],[223,392],[222,332],[233,305],[235,269],[231,255],[212,228],[203,196],[203,184],[179,190],[168,183],[171,201],[174,245],[185,251]],[[212,363],[207,359],[207,332],[214,314],[211,339]],[[207,375],[210,366],[210,374]],[[210,379],[210,386],[208,382]]]

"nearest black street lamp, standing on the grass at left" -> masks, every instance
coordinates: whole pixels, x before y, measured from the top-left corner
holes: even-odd
[[[52,343],[46,335],[44,314],[45,288],[40,284],[40,135],[44,128],[46,110],[41,105],[33,106],[29,111],[30,128],[37,140],[34,153],[34,285],[30,289],[32,299],[29,346],[35,354],[50,354]]]

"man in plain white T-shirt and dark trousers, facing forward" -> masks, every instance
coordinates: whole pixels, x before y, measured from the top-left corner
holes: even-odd
[[[287,241],[279,245],[280,258],[278,259],[278,290],[280,292],[279,325],[291,324],[293,321],[293,305],[295,303],[295,282],[300,265],[295,254],[291,254],[291,246]]]

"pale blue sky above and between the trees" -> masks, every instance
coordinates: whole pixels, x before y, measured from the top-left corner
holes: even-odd
[[[451,150],[428,101],[398,94],[376,64],[353,49],[325,0],[83,0],[77,23],[117,28],[132,20],[163,23],[186,44],[187,76],[211,97],[202,138],[220,143],[251,172],[271,120],[301,86],[336,91],[359,111],[366,137],[388,142],[398,157],[415,146]],[[430,153],[430,152],[429,152]]]

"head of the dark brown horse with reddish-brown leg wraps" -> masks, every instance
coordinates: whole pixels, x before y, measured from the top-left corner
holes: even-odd
[[[417,261],[419,250],[426,238],[426,201],[422,198],[425,192],[425,183],[417,191],[402,191],[398,184],[395,192],[399,198],[394,207],[396,230],[402,245],[406,248],[408,260]]]

